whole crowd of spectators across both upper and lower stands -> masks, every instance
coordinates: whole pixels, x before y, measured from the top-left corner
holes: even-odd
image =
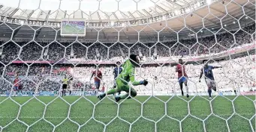
[[[62,87],[62,78],[68,75],[70,80],[69,87],[71,89],[90,89],[93,87],[93,81],[89,80],[92,71],[95,70],[94,65],[61,65],[61,64],[40,64],[32,65],[26,63],[14,64],[12,60],[35,61],[35,60],[53,60],[59,61],[75,58],[83,58],[86,60],[105,60],[113,57],[127,57],[128,54],[142,54],[149,57],[156,53],[159,57],[170,57],[179,55],[199,55],[218,53],[239,45],[252,43],[255,25],[243,28],[243,31],[237,31],[233,35],[228,32],[216,34],[207,37],[189,38],[185,40],[170,41],[164,43],[35,43],[35,42],[19,42],[13,43],[1,42],[2,54],[0,55],[0,94],[10,91],[16,75],[20,78],[20,84],[23,85],[23,91],[56,91]],[[197,43],[198,42],[198,43]],[[208,50],[209,49],[209,50]],[[239,57],[233,60],[224,60],[221,62],[213,62],[213,66],[223,66],[222,69],[214,69],[214,75],[220,91],[229,91],[231,89],[250,89],[254,87],[255,67],[249,59],[252,56]],[[7,66],[4,66],[4,63]],[[100,66],[103,74],[105,87],[113,86],[113,66]],[[204,92],[206,90],[205,83],[198,83],[201,66],[188,64],[186,70],[188,72],[188,86],[190,92]],[[137,69],[136,78],[149,79],[147,87],[136,87],[138,94],[152,94],[161,92],[179,92],[175,67],[173,66],[143,66]],[[157,77],[158,80],[154,80]],[[103,85],[101,85],[102,87]]]

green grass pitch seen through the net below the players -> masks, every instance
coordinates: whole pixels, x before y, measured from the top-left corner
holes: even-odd
[[[58,125],[54,131],[59,132],[71,132],[77,131],[78,129],[80,129],[80,131],[88,132],[98,132],[104,130],[109,132],[119,132],[129,131],[130,129],[131,131],[135,132],[151,132],[155,130],[161,132],[199,132],[204,131],[203,122],[200,121],[200,119],[206,119],[206,117],[208,117],[211,113],[209,100],[205,99],[208,98],[207,96],[195,96],[190,98],[179,98],[177,96],[174,96],[173,98],[171,98],[171,96],[156,96],[156,98],[149,98],[149,96],[137,96],[135,98],[137,101],[131,98],[119,104],[119,110],[118,104],[113,101],[112,96],[109,96],[110,98],[104,98],[104,100],[101,102],[98,101],[96,96],[85,97],[89,101],[85,98],[81,98],[80,96],[65,96],[65,101],[70,104],[76,101],[71,107],[69,107],[65,101],[57,96],[37,97],[45,104],[51,102],[47,107],[32,97],[12,97],[14,101],[17,101],[17,103],[24,104],[21,109],[19,105],[14,103],[14,101],[11,101],[10,98],[6,99],[6,97],[0,97],[0,131],[22,132],[28,129],[28,131],[32,132],[50,132],[53,131],[54,128],[52,125],[50,125],[50,123],[47,122],[49,121],[52,122],[53,125]],[[233,100],[233,104],[231,101],[227,100],[227,98],[222,96],[217,96],[214,100],[212,100],[211,104],[213,113],[223,119],[214,115],[209,116],[209,118],[205,120],[206,131],[226,132],[228,131],[227,125],[232,132],[252,131],[251,125],[253,128],[255,128],[255,107],[253,103],[255,96],[247,96],[253,101],[245,98],[244,96],[238,96],[237,98],[236,96],[226,97]],[[181,98],[185,99],[186,101],[191,98],[193,99],[191,99],[188,104]],[[161,99],[161,101],[159,99]],[[138,101],[145,102],[143,107]],[[167,102],[166,105],[163,101]],[[94,104],[97,105],[94,107]],[[233,109],[240,116],[236,113],[233,114]],[[44,110],[45,114],[43,114]],[[193,116],[187,116],[188,111],[190,111],[191,115],[196,116],[199,119],[196,119]],[[115,119],[117,114],[121,119]],[[77,122],[78,125],[68,119],[64,121],[68,115],[70,119]],[[28,128],[26,125],[23,125],[23,123],[20,123],[17,120],[14,121],[17,116],[21,122],[25,122],[27,125],[32,125],[43,116],[47,121],[42,119]],[[104,125],[96,122],[94,119],[92,119],[92,116],[94,116],[95,120],[98,120],[99,122],[105,124],[110,123],[106,128],[104,128]],[[169,116],[173,119],[169,118]],[[241,116],[245,117],[246,119],[243,119]],[[229,117],[231,118],[229,119]],[[122,119],[127,122],[134,122],[134,124],[129,125],[127,122],[122,121]],[[155,123],[147,119],[159,122]],[[227,122],[224,119],[228,119]],[[247,119],[251,119],[251,125]],[[182,121],[181,124],[179,124],[177,120]],[[10,122],[12,123],[8,125]],[[6,125],[8,125],[8,127],[3,128]],[[79,127],[79,125],[81,125],[81,127]],[[179,127],[180,125],[181,130]]]

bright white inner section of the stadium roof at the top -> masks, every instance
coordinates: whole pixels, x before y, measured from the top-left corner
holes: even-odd
[[[161,16],[185,7],[200,7],[212,0],[0,0],[2,16],[32,20],[62,18],[124,21]]]

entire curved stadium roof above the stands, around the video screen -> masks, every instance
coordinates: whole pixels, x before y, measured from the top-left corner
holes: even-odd
[[[0,0],[0,38],[61,38],[63,18],[85,19],[86,40],[176,40],[255,23],[255,0]]]

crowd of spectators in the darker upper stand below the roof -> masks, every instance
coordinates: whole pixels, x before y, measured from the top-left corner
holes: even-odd
[[[127,57],[130,54],[142,54],[152,57],[154,52],[159,57],[177,55],[200,55],[218,53],[229,48],[252,43],[255,25],[250,25],[237,32],[221,32],[206,37],[173,40],[162,43],[35,43],[9,42],[3,45],[0,61],[10,63],[20,57],[21,60],[62,60],[62,58],[82,58],[86,60],[106,60],[113,57]],[[230,34],[232,33],[232,34]],[[202,33],[203,34],[203,33]],[[2,42],[5,43],[5,42]],[[2,45],[2,43],[0,45]],[[44,47],[44,48],[43,48]],[[87,48],[86,48],[87,47]]]

